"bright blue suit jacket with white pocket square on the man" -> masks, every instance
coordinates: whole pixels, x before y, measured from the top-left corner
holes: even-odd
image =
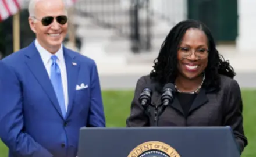
[[[73,157],[80,127],[105,127],[95,62],[65,47],[63,51],[69,95],[66,118],[34,42],[1,60],[0,137],[9,156]],[[76,90],[81,83],[88,88]]]

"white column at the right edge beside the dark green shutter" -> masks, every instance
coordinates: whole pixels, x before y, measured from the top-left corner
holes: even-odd
[[[256,1],[238,0],[239,34],[237,50],[239,53],[255,53],[256,49]]]

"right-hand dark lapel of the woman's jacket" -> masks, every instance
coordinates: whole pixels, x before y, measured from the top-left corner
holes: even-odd
[[[208,98],[206,95],[206,90],[204,88],[201,88],[200,92],[198,92],[197,97],[195,97],[193,104],[191,105],[191,108],[189,110],[189,113],[193,112],[193,110],[199,108],[200,106],[204,105],[206,102],[208,102]]]

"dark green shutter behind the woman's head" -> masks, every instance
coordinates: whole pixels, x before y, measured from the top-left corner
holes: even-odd
[[[237,0],[187,0],[188,19],[204,22],[217,42],[236,41]]]

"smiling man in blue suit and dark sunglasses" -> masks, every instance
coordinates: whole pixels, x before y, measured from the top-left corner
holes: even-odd
[[[74,157],[81,127],[105,127],[97,67],[62,45],[62,0],[31,0],[29,13],[37,38],[0,62],[0,137],[9,156]]]

